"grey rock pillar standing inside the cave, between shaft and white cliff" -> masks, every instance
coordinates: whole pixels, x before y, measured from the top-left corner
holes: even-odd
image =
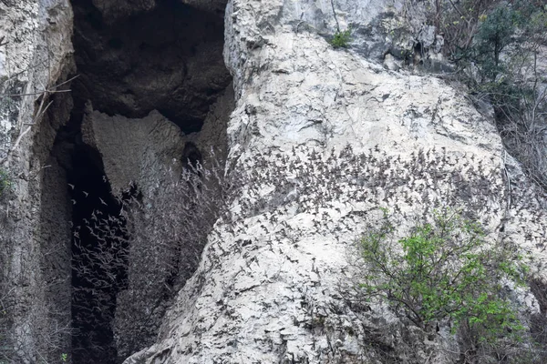
[[[181,173],[191,157],[189,150],[204,163],[225,158],[232,100],[228,89],[212,106],[201,132],[191,135],[181,133],[156,110],[142,119],[129,119],[93,111],[88,104],[83,142],[102,156],[112,193],[121,200],[134,186],[140,195],[123,207],[129,222],[129,271],[127,288],[117,296],[113,322],[120,359],[153,343],[175,288],[197,266],[201,240],[214,223],[201,215],[202,207],[219,201],[196,197],[200,194],[188,190]],[[218,159],[208,158],[212,150]],[[191,174],[186,171],[183,176]]]

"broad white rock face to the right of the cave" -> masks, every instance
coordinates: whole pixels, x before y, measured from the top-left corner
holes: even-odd
[[[419,10],[335,3],[341,25],[364,27]],[[463,207],[492,241],[511,239],[544,263],[545,196],[519,174],[492,120],[438,78],[333,49],[316,31],[334,33],[329,11],[329,1],[229,3],[231,216],[216,224],[158,343],[126,364],[377,359],[374,333],[397,345],[397,320],[347,298],[351,251],[377,207],[407,217]]]

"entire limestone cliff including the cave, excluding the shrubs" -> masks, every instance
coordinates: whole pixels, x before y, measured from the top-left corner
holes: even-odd
[[[547,196],[488,110],[394,57],[444,65],[427,3],[0,2],[8,362],[457,362],[449,328],[355,298],[356,239],[378,207],[462,207],[542,276]]]

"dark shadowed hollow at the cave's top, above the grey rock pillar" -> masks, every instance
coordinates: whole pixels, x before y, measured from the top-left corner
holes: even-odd
[[[188,134],[230,85],[222,16],[161,0],[149,12],[107,22],[91,0],[73,0],[76,106],[91,100],[110,116],[156,109]],[[79,103],[79,106],[78,106]]]

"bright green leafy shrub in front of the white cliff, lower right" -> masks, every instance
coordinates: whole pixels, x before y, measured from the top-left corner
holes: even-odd
[[[479,224],[449,210],[436,212],[408,237],[395,239],[395,224],[382,223],[360,240],[366,265],[361,288],[401,318],[422,329],[449,321],[495,341],[505,330],[522,329],[510,302],[500,296],[503,278],[521,283],[525,266],[508,248],[490,248]]]

